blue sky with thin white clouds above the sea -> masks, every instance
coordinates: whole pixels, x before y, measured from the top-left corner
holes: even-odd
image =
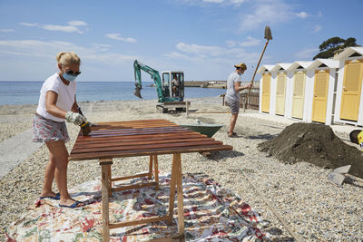
[[[78,82],[134,81],[134,60],[186,81],[226,80],[246,63],[249,82],[266,25],[260,66],[311,61],[331,37],[363,45],[362,9],[363,0],[0,0],[0,82],[44,82],[62,51],[80,56]]]

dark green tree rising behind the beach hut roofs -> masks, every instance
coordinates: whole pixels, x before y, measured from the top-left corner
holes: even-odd
[[[339,37],[332,37],[329,40],[324,41],[319,45],[319,53],[315,55],[312,59],[315,60],[317,58],[331,58],[334,56],[340,49],[345,49],[349,46],[357,46],[356,38],[350,37],[348,39],[342,39]]]

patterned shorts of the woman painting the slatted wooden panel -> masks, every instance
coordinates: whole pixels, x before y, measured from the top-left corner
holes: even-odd
[[[39,114],[35,114],[33,121],[33,141],[48,142],[58,140],[64,140],[64,142],[69,140],[65,122],[48,120]]]

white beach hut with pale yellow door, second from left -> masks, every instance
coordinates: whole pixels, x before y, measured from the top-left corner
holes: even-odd
[[[288,68],[291,65],[291,63],[277,63],[272,69],[271,73],[276,73],[276,88],[272,88],[273,90],[276,90],[276,92],[273,93],[275,95],[275,98],[272,98],[272,100],[275,100],[275,112],[274,114],[284,116],[285,115],[285,103],[286,103],[286,92],[287,92],[287,84],[288,84],[288,76],[290,79],[290,75],[288,75]]]

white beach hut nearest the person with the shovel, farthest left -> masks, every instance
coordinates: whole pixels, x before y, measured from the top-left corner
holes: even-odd
[[[260,79],[260,112],[267,112],[269,113],[271,111],[271,103],[270,102],[270,93],[273,93],[271,91],[271,81],[273,79],[271,78],[271,70],[274,67],[274,65],[270,64],[264,64],[260,67],[258,70],[258,73],[261,75]],[[272,107],[273,109],[273,107]]]

